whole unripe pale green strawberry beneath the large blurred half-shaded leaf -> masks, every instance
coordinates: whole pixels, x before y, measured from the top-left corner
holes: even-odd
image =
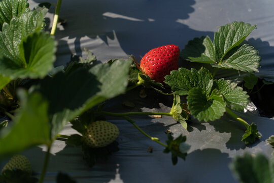
[[[90,147],[105,147],[111,144],[119,135],[119,129],[116,125],[99,120],[91,123],[87,127],[84,136],[84,142]]]

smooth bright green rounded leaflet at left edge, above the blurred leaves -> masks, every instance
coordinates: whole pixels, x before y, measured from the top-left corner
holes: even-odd
[[[1,33],[0,35],[2,36]],[[12,35],[9,36],[10,39],[15,39]],[[5,52],[0,58],[0,72],[6,77],[43,78],[53,68],[56,42],[47,33],[34,33],[16,45],[16,48],[10,48],[10,46],[6,48],[12,50],[10,55],[5,55]]]

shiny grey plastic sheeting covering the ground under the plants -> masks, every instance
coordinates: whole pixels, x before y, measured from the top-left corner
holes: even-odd
[[[29,1],[35,7],[44,1]],[[47,1],[56,3],[57,1]],[[232,21],[257,24],[257,28],[246,39],[260,51],[261,68],[256,75],[274,81],[274,2],[273,1],[109,1],[66,0],[62,2],[60,18],[66,24],[58,25],[57,65],[64,65],[72,53],[85,55],[83,48],[91,50],[100,62],[113,58],[127,58],[133,54],[137,60],[150,49],[165,44],[176,44],[181,49],[194,37],[209,35],[220,25]],[[54,7],[46,21],[51,26]],[[185,63],[181,63],[184,66]],[[237,73],[237,72],[236,72]],[[219,77],[235,76],[235,72],[218,73]],[[160,95],[141,99],[138,89],[126,96],[111,101],[106,110],[128,111],[121,101],[128,99],[135,104],[132,111],[169,111],[172,101]],[[266,101],[267,102],[267,101]],[[240,113],[249,123],[254,122],[262,138],[251,146],[241,142],[244,129],[229,116],[210,123],[193,120],[186,131],[170,117],[133,117],[151,136],[166,140],[165,130],[173,135],[187,136],[191,145],[186,161],[172,165],[170,154],[163,154],[163,147],[147,139],[131,124],[120,118],[109,118],[120,129],[118,137],[120,151],[107,161],[100,161],[89,168],[82,160],[81,148],[55,141],[45,182],[55,182],[59,171],[70,174],[78,182],[235,182],[228,164],[235,155],[245,151],[252,154],[262,152],[268,157],[271,147],[265,140],[274,134],[274,121],[251,112]],[[75,133],[69,125],[62,134]],[[153,146],[153,153],[147,148]],[[36,147],[24,152],[41,172],[45,150]]]

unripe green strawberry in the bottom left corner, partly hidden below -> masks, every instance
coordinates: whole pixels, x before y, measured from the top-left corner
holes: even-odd
[[[30,161],[23,155],[14,155],[10,161],[4,166],[2,172],[5,170],[20,169],[31,174]]]

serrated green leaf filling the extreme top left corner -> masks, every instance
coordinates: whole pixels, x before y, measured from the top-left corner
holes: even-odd
[[[0,2],[0,29],[4,22],[10,23],[13,17],[20,17],[22,13],[28,12],[27,0],[4,0]]]

